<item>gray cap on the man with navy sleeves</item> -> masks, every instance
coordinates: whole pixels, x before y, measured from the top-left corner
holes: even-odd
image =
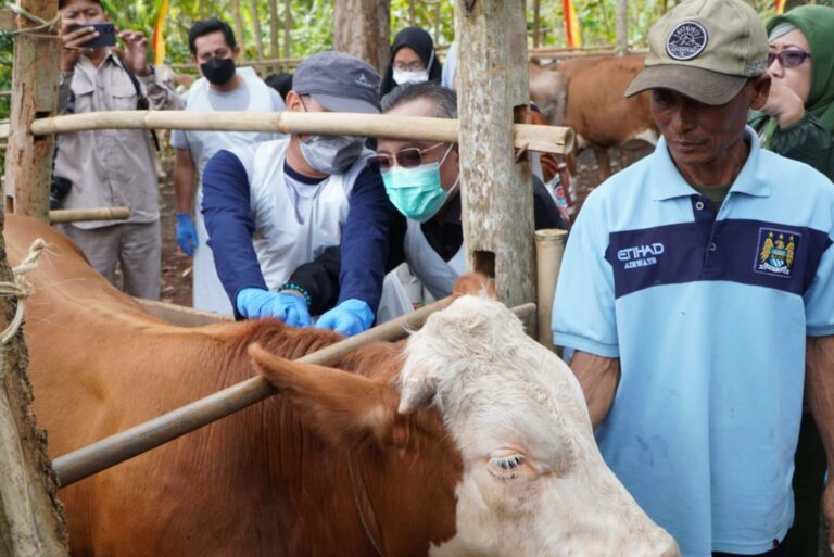
[[[379,114],[379,74],[344,52],[319,52],[305,59],[292,77],[292,90],[309,94],[331,112]]]

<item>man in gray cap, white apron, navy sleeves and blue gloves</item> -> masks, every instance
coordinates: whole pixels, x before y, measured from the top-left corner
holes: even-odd
[[[378,91],[371,66],[321,52],[299,66],[287,107],[376,114]],[[317,327],[343,334],[371,326],[392,207],[379,173],[365,164],[374,152],[364,145],[363,137],[293,134],[220,151],[208,162],[202,211],[237,317],[309,327],[311,315],[320,315]],[[338,277],[338,288],[312,288],[323,277]]]

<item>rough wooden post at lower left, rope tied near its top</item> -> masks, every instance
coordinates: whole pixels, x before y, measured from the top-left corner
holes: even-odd
[[[0,212],[0,229],[2,220]],[[0,281],[13,282],[1,235]],[[0,296],[0,329],[11,322],[18,303],[23,302]],[[68,557],[46,435],[35,425],[29,407],[27,359],[21,331],[0,346],[0,555]]]

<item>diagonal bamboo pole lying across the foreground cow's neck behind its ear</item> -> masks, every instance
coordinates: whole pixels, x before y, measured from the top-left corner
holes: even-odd
[[[455,298],[452,295],[439,300],[416,312],[392,319],[355,337],[344,339],[313,354],[307,354],[299,358],[298,362],[329,366],[370,342],[402,339],[407,334],[407,331],[422,327],[431,314],[447,307],[454,302]],[[525,319],[530,313],[535,312],[535,304],[522,304],[514,307],[511,311],[520,319]],[[277,391],[269,381],[263,377],[253,377],[150,421],[73,451],[52,461],[59,484],[61,488],[66,488],[72,483],[84,480],[180,438],[186,433],[190,433],[252,406],[276,393]]]

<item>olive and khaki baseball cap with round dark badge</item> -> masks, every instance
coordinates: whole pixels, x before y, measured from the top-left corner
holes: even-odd
[[[648,55],[626,97],[671,89],[710,105],[730,102],[768,66],[768,34],[743,0],[686,0],[652,26]]]

